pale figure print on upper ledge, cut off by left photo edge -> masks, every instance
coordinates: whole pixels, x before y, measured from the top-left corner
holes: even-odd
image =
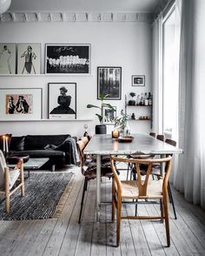
[[[17,44],[0,44],[0,74],[16,73]]]

